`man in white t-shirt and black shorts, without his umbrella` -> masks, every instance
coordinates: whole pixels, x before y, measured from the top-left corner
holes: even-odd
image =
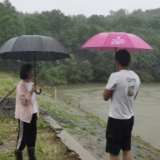
[[[128,51],[116,52],[116,67],[119,72],[111,74],[103,94],[105,101],[111,98],[106,132],[106,152],[110,153],[111,160],[119,160],[121,149],[123,160],[132,160],[133,102],[141,82],[138,75],[129,69],[130,60],[131,56]]]

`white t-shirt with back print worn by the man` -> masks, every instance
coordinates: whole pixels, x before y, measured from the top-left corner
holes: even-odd
[[[133,102],[141,81],[133,71],[121,70],[111,74],[106,89],[113,90],[109,117],[130,119],[133,114]]]

